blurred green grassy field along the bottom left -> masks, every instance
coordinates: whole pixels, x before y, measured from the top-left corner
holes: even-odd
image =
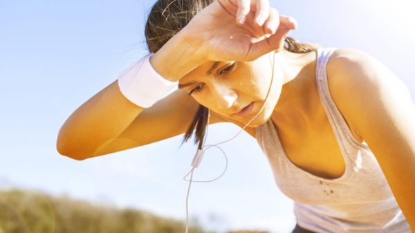
[[[0,189],[0,233],[183,233],[185,223],[34,190]],[[208,232],[190,223],[190,233]],[[228,233],[268,233],[238,230]]]

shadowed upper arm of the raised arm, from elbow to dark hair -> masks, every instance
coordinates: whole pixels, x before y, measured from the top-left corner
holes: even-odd
[[[185,133],[190,127],[199,104],[185,91],[177,90],[144,109],[117,138],[106,142],[93,157],[140,147]],[[211,114],[210,124],[223,122]]]

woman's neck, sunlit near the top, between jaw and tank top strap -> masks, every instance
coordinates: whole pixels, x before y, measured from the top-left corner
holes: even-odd
[[[271,118],[280,124],[306,124],[315,100],[315,52],[291,53],[282,50],[275,63],[284,79],[281,95]],[[313,95],[314,94],[314,95]]]

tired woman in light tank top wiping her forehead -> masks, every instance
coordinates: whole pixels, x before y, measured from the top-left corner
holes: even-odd
[[[373,57],[299,44],[295,28],[266,0],[157,1],[145,30],[154,55],[66,120],[59,153],[84,160],[194,129],[203,149],[207,124],[232,122],[295,201],[293,232],[414,230],[409,91]]]

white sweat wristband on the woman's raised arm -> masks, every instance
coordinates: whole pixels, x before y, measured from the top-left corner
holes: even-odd
[[[151,66],[149,54],[118,77],[122,95],[143,108],[153,106],[177,88],[178,81],[172,82],[161,77]]]

